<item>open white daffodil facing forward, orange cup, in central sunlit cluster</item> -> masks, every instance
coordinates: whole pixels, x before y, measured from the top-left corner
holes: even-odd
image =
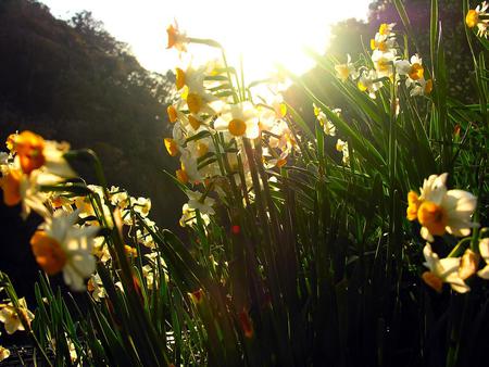
[[[258,111],[250,102],[228,104],[214,122],[214,128],[234,137],[255,139],[260,135],[259,121]]]

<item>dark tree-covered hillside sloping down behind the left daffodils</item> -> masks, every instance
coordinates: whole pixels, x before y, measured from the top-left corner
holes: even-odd
[[[0,24],[0,139],[32,129],[91,148],[111,185],[150,197],[154,219],[175,226],[181,200],[162,173],[174,169],[162,144],[172,75],[142,68],[88,12],[64,22],[36,1],[2,0]]]

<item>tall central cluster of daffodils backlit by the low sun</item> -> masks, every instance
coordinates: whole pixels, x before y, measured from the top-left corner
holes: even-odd
[[[179,52],[186,51],[188,42],[199,42],[176,25],[170,26],[167,33],[168,48]],[[243,192],[251,191],[247,145],[251,150],[260,147],[266,168],[284,166],[297,149],[280,98],[254,103],[250,89],[239,85],[236,72],[223,63],[189,63],[176,68],[177,98],[167,107],[173,130],[164,144],[171,156],[179,159],[175,176],[186,186],[189,198],[183,208],[181,226],[195,224],[197,213],[208,223],[214,213],[211,195],[225,195],[231,181]]]

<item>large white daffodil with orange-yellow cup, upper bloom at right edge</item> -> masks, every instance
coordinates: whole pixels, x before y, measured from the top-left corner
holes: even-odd
[[[408,218],[417,218],[422,225],[422,237],[430,242],[434,236],[444,232],[457,237],[468,236],[471,228],[477,226],[471,220],[477,199],[467,191],[447,190],[447,176],[429,176],[421,188],[419,197],[416,198],[415,192],[410,192],[408,197]]]

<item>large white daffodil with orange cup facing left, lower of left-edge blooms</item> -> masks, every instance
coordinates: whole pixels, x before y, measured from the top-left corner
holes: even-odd
[[[75,291],[85,290],[85,278],[93,274],[96,260],[92,240],[97,227],[79,227],[78,211],[54,213],[30,239],[34,256],[48,274],[63,271],[65,283]]]

